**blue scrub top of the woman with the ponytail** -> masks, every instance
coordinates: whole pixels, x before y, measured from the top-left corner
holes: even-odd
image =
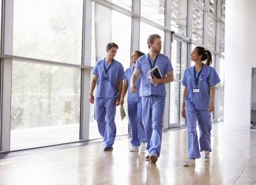
[[[210,99],[210,87],[215,86],[220,82],[214,68],[209,65],[204,65],[201,68],[201,74],[198,76],[199,93],[193,93],[196,87],[196,80],[194,78],[194,66],[186,68],[183,76],[183,85],[187,87],[186,100],[194,103],[196,109],[208,110]]]

